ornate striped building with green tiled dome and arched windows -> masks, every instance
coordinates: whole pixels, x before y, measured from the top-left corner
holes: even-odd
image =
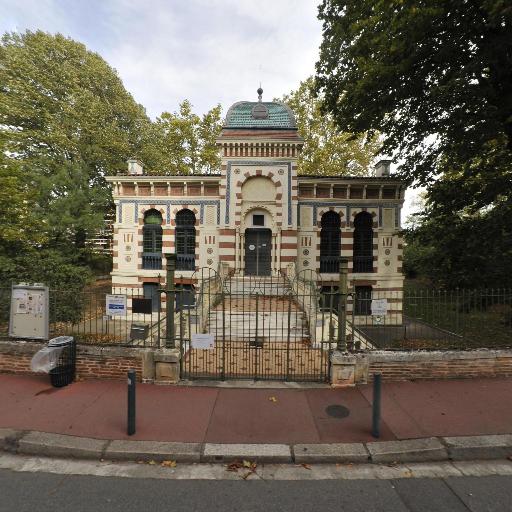
[[[176,283],[191,294],[205,269],[260,283],[299,277],[329,293],[345,256],[349,290],[365,298],[349,301],[352,322],[400,325],[405,184],[390,174],[388,160],[371,177],[298,176],[304,141],[295,116],[257,92],[257,101],[237,102],[226,114],[217,140],[220,174],[147,176],[130,160],[128,173],[107,178],[117,207],[114,292],[158,297],[166,284],[163,255],[175,253]],[[370,303],[385,294],[394,299],[377,320]],[[153,304],[163,307],[164,296]],[[314,330],[317,320],[303,314]]]

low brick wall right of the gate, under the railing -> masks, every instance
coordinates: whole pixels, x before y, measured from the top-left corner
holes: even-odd
[[[385,352],[367,355],[368,378],[376,372],[388,381],[512,377],[512,350]]]

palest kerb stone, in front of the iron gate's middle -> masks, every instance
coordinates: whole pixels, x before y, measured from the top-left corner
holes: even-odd
[[[292,462],[290,447],[286,444],[215,444],[204,445],[202,462],[231,462],[249,460],[258,462]]]

